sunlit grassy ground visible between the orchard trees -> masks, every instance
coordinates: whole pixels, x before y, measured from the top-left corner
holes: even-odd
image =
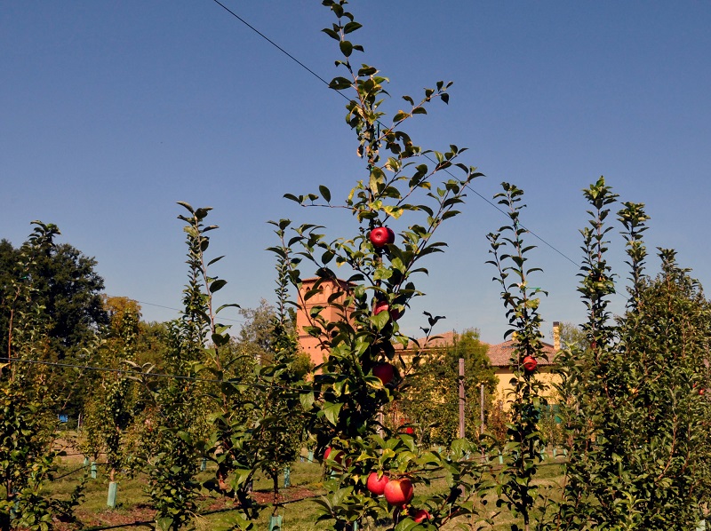
[[[547,460],[546,463],[547,465],[542,466],[539,470],[537,482],[540,485],[552,487],[555,492],[559,488],[561,479],[560,465],[553,460]],[[52,484],[52,492],[55,495],[68,495],[82,478],[84,470],[81,470],[81,466],[81,459],[65,460],[61,473],[67,475]],[[150,499],[145,493],[145,476],[138,475],[132,479],[121,477],[118,484],[116,508],[109,509],[107,507],[108,478],[102,472],[104,471],[100,468],[97,479],[88,479],[84,500],[76,509],[76,515],[84,528],[151,527],[155,511],[150,508]],[[212,473],[208,470],[199,479],[206,480],[211,477],[213,477]],[[308,499],[324,494],[321,465],[298,462],[292,466],[291,480],[292,487],[282,490],[285,500],[279,509],[279,514],[283,516],[282,529],[284,531],[325,529],[327,527],[325,523],[316,523],[316,504]],[[429,487],[419,486],[418,495],[428,495],[440,491],[444,487],[444,480],[438,479],[433,481]],[[260,502],[271,502],[270,488],[270,480],[256,479],[254,491]],[[491,499],[490,502],[488,506],[493,511],[495,510],[495,500]],[[418,497],[415,498],[413,505],[417,506],[417,503]],[[196,517],[196,527],[204,531],[220,527],[220,523],[225,522],[234,514],[231,507],[231,500],[228,497],[207,495],[206,493],[200,500],[200,514]],[[262,511],[260,520],[257,522],[257,529],[268,528],[270,513],[270,510]],[[385,524],[385,522],[383,523]],[[467,519],[459,519],[456,523],[467,524]],[[496,531],[510,529],[512,523],[515,523],[515,519],[512,519],[510,513],[504,509],[496,517],[496,526],[493,529]]]

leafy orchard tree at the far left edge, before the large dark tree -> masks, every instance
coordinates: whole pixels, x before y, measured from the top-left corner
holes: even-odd
[[[33,233],[20,250],[6,243],[2,275],[4,317],[3,357],[0,360],[0,529],[50,529],[52,518],[72,518],[72,508],[83,485],[63,500],[48,494],[61,453],[55,448],[56,408],[65,399],[56,384],[54,368],[29,361],[51,356],[47,336],[49,316],[38,297],[29,271],[37,257],[52,253],[56,226],[35,222]],[[6,274],[8,273],[9,274]],[[12,518],[11,518],[12,515]]]

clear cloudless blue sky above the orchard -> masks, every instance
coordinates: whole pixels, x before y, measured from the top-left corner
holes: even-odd
[[[330,12],[316,0],[226,0],[316,73],[337,75]],[[419,145],[469,147],[464,162],[491,198],[501,181],[526,192],[524,225],[579,261],[580,190],[604,175],[651,215],[648,248],[672,247],[704,284],[711,192],[711,4],[705,2],[421,2],[350,4],[363,62],[402,94],[453,81],[410,130]],[[337,237],[343,211],[300,209],[284,193],[345,196],[363,178],[345,101],[211,0],[26,2],[0,10],[0,237],[19,245],[30,221],[95,257],[107,292],[143,302],[144,318],[177,315],[186,279],[177,201],[212,206],[221,303],[274,298],[268,219],[316,221]],[[389,107],[389,108],[395,108]],[[419,336],[422,310],[440,331],[502,339],[485,234],[505,218],[470,194],[428,260],[427,297],[402,320]],[[615,230],[612,261],[625,276]],[[531,242],[535,242],[532,241]],[[576,267],[540,244],[551,322],[583,319]],[[650,272],[658,260],[649,260]],[[621,297],[615,310],[622,308]],[[230,317],[238,318],[235,313]]]

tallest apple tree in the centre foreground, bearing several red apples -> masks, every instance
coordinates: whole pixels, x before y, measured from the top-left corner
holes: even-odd
[[[424,295],[415,285],[418,275],[427,273],[421,261],[443,250],[445,243],[435,241],[434,234],[459,213],[456,208],[464,201],[467,186],[481,174],[459,162],[464,149],[453,145],[444,152],[422,149],[403,128],[415,116],[426,115],[435,100],[447,103],[451,83],[435,83],[419,101],[403,96],[407,107],[388,116],[381,107],[387,98],[387,78],[377,68],[355,62],[363,46],[351,38],[361,25],[346,11],[344,0],[323,4],[337,19],[324,33],[339,44],[342,54],[336,64],[343,75],[333,78],[330,86],[352,94],[346,121],[356,133],[364,178],[343,202],[336,202],[327,186],[319,186],[318,194],[286,194],[304,207],[349,212],[355,223],[351,234],[333,240],[321,226],[293,226],[292,237],[277,250],[287,260],[290,280],[300,293],[297,304],[306,307],[324,282],[337,286],[328,301],[339,314],[336,320],[326,319],[322,306],[309,312],[307,332],[317,338],[326,358],[300,397],[311,417],[308,427],[316,450],[332,472],[320,519],[337,529],[383,515],[398,527],[440,527],[473,511],[478,464],[459,460],[471,451],[471,443],[454,441],[451,456],[446,457],[419,448],[411,434],[392,432],[379,417],[384,406],[401,397],[416,368],[416,363],[397,355],[395,344],[411,341],[398,319],[413,298]],[[290,223],[282,220],[279,225],[285,229]],[[317,277],[306,290],[304,267]],[[440,317],[427,315],[429,336]],[[412,498],[417,485],[427,483],[437,470],[447,472],[444,491]],[[376,479],[387,477],[391,487],[384,495],[389,503],[369,490],[372,472]]]

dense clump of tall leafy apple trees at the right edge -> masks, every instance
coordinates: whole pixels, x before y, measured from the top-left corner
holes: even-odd
[[[585,190],[579,291],[587,305],[585,345],[561,358],[562,414],[570,463],[555,528],[689,529],[708,506],[709,303],[673,250],[661,273],[644,273],[643,205],[624,202],[629,266],[627,310],[612,320],[615,275],[606,223],[617,200],[603,178]]]

